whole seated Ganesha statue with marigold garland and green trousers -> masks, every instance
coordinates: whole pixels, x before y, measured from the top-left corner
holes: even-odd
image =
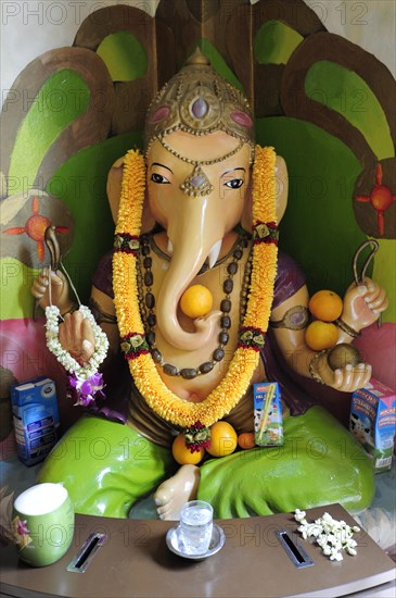
[[[64,484],[76,512],[125,518],[151,493],[158,516],[170,520],[195,497],[218,518],[330,502],[356,512],[372,500],[369,458],[315,397],[321,384],[360,388],[371,369],[333,370],[327,351],[305,344],[305,278],[278,251],[286,196],[284,161],[255,144],[247,101],[195,51],[150,107],[144,153],[129,151],[108,175],[115,244],[93,276],[90,303],[110,344],[106,397],[39,472],[39,482]],[[195,285],[210,298],[204,313],[181,309]],[[61,272],[43,271],[33,292],[41,307],[58,306],[63,352],[82,369],[98,365],[100,336],[74,308]],[[350,344],[386,307],[371,279],[352,285],[338,342]],[[180,434],[199,432],[196,444],[207,444],[219,421],[252,432],[253,385],[265,381],[281,389],[283,446],[176,463]]]

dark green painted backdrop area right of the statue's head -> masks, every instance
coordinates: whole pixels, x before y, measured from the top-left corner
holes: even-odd
[[[343,295],[353,279],[353,256],[366,240],[352,200],[358,160],[340,139],[308,122],[260,119],[256,130],[258,142],[273,146],[288,164],[280,248],[302,265],[311,294],[330,288]]]

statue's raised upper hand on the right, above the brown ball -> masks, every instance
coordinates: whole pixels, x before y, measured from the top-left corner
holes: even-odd
[[[341,319],[356,332],[370,326],[388,307],[386,291],[371,278],[365,278],[361,285],[352,284],[344,297]]]

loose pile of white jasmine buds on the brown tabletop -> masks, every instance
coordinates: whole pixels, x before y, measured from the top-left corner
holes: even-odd
[[[342,561],[342,550],[348,555],[356,556],[357,541],[353,539],[355,532],[360,532],[360,527],[347,525],[345,521],[337,521],[329,513],[322,518],[316,519],[314,523],[308,523],[305,519],[306,512],[296,509],[294,519],[301,524],[297,530],[304,539],[314,537],[320,546],[323,555],[331,561]]]

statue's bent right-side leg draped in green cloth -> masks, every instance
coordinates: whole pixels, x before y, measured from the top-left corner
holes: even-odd
[[[283,425],[282,447],[205,460],[197,498],[210,502],[215,518],[268,515],[293,511],[296,504],[310,509],[331,502],[357,512],[371,504],[371,459],[324,408],[314,406],[285,418]]]

